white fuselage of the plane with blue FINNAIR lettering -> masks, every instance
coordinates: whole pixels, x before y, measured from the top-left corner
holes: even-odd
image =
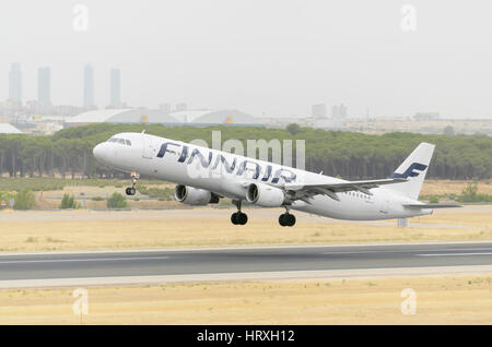
[[[121,133],[115,137],[128,140],[131,145],[119,142],[98,144],[94,148],[94,155],[101,163],[119,171],[139,172],[147,177],[208,190],[233,200],[245,200],[248,182],[279,188],[286,182],[309,184],[347,182],[329,176],[143,133]],[[318,194],[311,198],[308,203],[296,200],[290,208],[350,220],[405,218],[432,213],[432,210],[406,208],[403,204],[419,202],[391,189],[374,188],[370,192],[372,195],[359,191],[338,193],[338,201]]]

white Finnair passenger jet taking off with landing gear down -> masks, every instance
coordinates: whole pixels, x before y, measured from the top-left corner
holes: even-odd
[[[386,179],[347,181],[222,151],[142,133],[120,133],[93,149],[98,161],[132,177],[126,193],[136,193],[140,175],[177,183],[175,199],[189,205],[227,198],[237,212],[234,225],[245,225],[242,202],[284,207],[281,226],[293,226],[291,210],[338,219],[374,220],[432,214],[458,205],[418,201],[434,145],[421,143]]]

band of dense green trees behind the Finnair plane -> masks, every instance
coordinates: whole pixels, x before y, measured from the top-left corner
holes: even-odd
[[[393,132],[370,135],[327,131],[291,124],[288,129],[253,127],[165,127],[162,124],[91,124],[63,129],[50,136],[0,135],[0,174],[9,177],[83,176],[122,177],[98,164],[92,148],[119,132],[142,132],[189,142],[211,144],[212,131],[222,142],[247,140],[305,140],[306,169],[347,179],[384,178],[405,160],[420,142],[436,145],[427,177],[442,179],[490,179],[492,137],[487,135],[423,135]],[[295,165],[295,160],[294,160]]]

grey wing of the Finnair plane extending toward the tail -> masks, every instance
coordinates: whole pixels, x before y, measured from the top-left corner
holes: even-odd
[[[314,183],[314,184],[298,184],[298,183],[286,183],[283,188],[285,191],[292,191],[298,199],[311,198],[317,194],[325,194],[333,200],[339,200],[337,193],[349,192],[349,191],[360,191],[364,194],[372,195],[370,189],[377,188],[385,184],[395,184],[406,182],[407,179],[403,178],[386,178],[380,180],[368,180],[368,181],[349,181],[341,183]]]

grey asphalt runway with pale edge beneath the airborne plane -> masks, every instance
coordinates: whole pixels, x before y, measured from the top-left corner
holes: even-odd
[[[440,274],[450,267],[490,271],[492,242],[1,255],[0,288],[147,283],[145,278],[155,283],[254,279],[265,274],[305,277],[324,272],[363,275],[387,270],[398,274],[415,268]]]

